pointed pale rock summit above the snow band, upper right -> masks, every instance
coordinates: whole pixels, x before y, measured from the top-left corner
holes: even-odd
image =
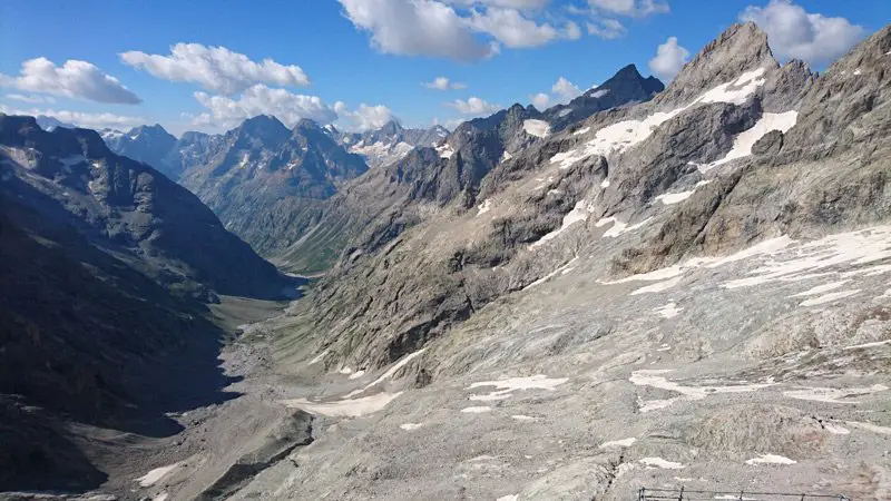
[[[767,45],[767,35],[754,22],[736,23],[708,42],[684,66],[659,101],[682,101],[732,81],[745,71],[779,67]]]

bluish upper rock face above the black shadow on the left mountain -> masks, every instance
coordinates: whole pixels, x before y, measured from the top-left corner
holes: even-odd
[[[6,196],[72,224],[158,283],[184,292],[278,296],[277,271],[185,188],[111,153],[86,129],[0,117]],[[21,191],[20,191],[21,190]]]

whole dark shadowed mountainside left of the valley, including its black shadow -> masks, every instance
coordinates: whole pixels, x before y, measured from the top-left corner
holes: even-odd
[[[197,197],[95,131],[6,115],[0,267],[0,490],[98,487],[96,461],[126,449],[115,433],[175,434],[166,413],[225,399],[224,333],[204,303],[293,291]]]

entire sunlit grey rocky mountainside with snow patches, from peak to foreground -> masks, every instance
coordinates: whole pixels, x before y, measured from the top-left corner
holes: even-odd
[[[434,209],[256,327],[324,431],[234,499],[887,499],[889,52],[884,28],[817,77],[736,24],[459,196],[454,134],[414,160],[440,175],[394,164]]]

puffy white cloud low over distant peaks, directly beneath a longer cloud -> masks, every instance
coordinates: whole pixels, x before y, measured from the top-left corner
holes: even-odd
[[[257,115],[273,115],[288,127],[295,126],[301,118],[310,118],[320,124],[331,124],[337,119],[337,112],[317,96],[292,94],[263,84],[247,88],[237,98],[208,96],[199,91],[195,92],[195,99],[207,108],[206,114],[198,116],[196,125],[234,127]]]

